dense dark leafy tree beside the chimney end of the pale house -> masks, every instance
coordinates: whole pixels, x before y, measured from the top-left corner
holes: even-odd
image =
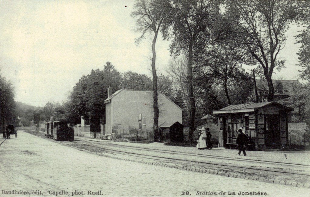
[[[100,120],[105,122],[104,100],[108,97],[108,87],[118,90],[121,84],[121,74],[107,62],[103,70],[92,70],[87,76],[80,78],[71,94],[72,112],[84,116],[91,123],[92,132],[100,132]],[[112,94],[111,92],[110,94]]]

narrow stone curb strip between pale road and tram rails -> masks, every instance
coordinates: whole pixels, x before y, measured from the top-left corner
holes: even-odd
[[[175,169],[187,170],[187,171],[198,172],[198,173],[216,174],[216,175],[225,176],[225,177],[248,179],[248,180],[260,181],[260,182],[266,182],[266,183],[275,183],[275,184],[286,185],[286,186],[310,188],[310,184],[309,183],[300,183],[300,182],[280,180],[280,179],[273,179],[273,178],[269,179],[269,178],[264,178],[264,177],[260,177],[260,176],[257,176],[257,175],[249,176],[249,175],[245,175],[243,173],[225,173],[225,172],[222,172],[222,171],[219,171],[219,170],[205,169],[203,167],[189,167],[189,166],[182,165],[182,164],[175,164],[175,163],[172,163],[172,162],[169,162],[169,161],[145,161],[145,160],[137,160],[137,159],[131,159],[131,158],[122,158],[122,157],[118,157],[118,156],[114,156],[114,155],[107,155],[107,154],[104,154],[104,153],[88,151],[88,150],[85,150],[85,149],[82,149],[82,148],[78,148],[78,147],[73,147],[73,146],[70,146],[69,144],[64,144],[64,143],[61,143],[61,142],[58,142],[58,141],[54,141],[54,142],[56,142],[58,144],[61,144],[61,145],[64,145],[64,146],[67,146],[67,147],[71,147],[71,148],[77,149],[79,151],[84,151],[84,152],[87,152],[87,153],[90,153],[90,154],[94,154],[94,155],[109,157],[109,158],[112,158],[112,159],[132,161],[132,162],[138,162],[138,163],[142,163],[142,164],[156,165],[156,166],[162,166],[162,167],[168,167],[168,168],[175,168]],[[127,155],[127,156],[131,157],[131,155]],[[148,158],[148,160],[153,160],[153,159],[152,158]]]

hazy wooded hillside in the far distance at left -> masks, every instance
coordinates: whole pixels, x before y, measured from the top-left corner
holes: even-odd
[[[43,110],[43,107],[36,107],[22,102],[15,102],[15,103],[16,103],[15,108],[16,116],[19,117],[20,122],[24,126],[29,126],[30,122],[35,119],[35,113],[38,112],[39,110]]]

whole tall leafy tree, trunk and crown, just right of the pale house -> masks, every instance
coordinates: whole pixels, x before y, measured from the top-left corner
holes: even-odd
[[[188,138],[192,140],[196,129],[193,67],[203,54],[210,35],[211,20],[217,17],[219,7],[215,1],[175,0],[170,3],[168,10],[169,20],[165,21],[166,28],[163,29],[163,33],[166,39],[171,39],[170,52],[174,56],[184,53],[187,57],[186,88],[190,109]]]

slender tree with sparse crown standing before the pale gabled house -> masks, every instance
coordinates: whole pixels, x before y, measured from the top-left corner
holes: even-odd
[[[135,11],[131,13],[131,16],[136,19],[136,31],[142,33],[141,36],[136,39],[139,43],[146,33],[153,33],[152,42],[152,74],[153,74],[153,110],[154,110],[154,141],[158,141],[158,92],[157,92],[157,73],[155,67],[156,51],[155,44],[157,40],[158,33],[161,29],[162,22],[166,17],[165,12],[162,10],[162,5],[164,1],[159,0],[136,0]]]

